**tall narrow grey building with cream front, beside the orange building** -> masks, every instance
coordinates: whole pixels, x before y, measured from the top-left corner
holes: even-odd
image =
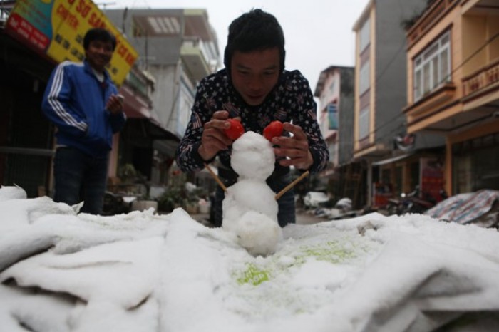
[[[426,0],[371,0],[354,24],[354,160],[367,170],[367,205],[383,205],[378,190],[393,195],[428,187],[423,169],[443,158],[444,140],[406,128],[406,29]],[[433,182],[432,182],[433,183]],[[441,185],[441,184],[440,184]],[[385,190],[388,188],[388,190]]]

